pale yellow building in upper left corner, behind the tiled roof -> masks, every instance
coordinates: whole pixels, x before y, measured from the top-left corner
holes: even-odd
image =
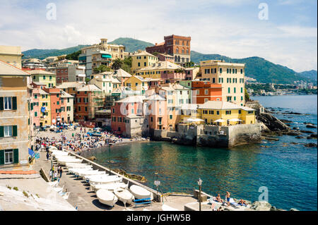
[[[12,66],[21,68],[22,56],[23,54],[21,54],[21,47],[0,45],[0,60],[9,63]]]

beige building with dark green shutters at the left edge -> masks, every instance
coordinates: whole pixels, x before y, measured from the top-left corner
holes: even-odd
[[[2,50],[1,50],[2,51]],[[6,61],[20,65],[19,54]],[[31,147],[30,74],[0,60],[0,168],[28,165]],[[16,61],[16,63],[14,63]]]

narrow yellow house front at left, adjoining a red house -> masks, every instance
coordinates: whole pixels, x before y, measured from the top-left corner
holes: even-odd
[[[51,126],[51,97],[42,89],[40,89],[39,94],[40,126]]]

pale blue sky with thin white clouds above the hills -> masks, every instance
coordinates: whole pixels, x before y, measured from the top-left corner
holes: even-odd
[[[192,50],[204,54],[317,70],[317,0],[0,0],[0,6],[0,45],[22,51],[100,38],[154,44],[174,34],[192,37]]]

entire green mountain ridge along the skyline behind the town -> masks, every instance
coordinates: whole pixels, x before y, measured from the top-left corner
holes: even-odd
[[[109,44],[122,44],[126,47],[126,51],[129,52],[138,51],[139,49],[144,50],[146,47],[154,45],[150,42],[143,42],[139,39],[129,37],[119,37],[112,42],[109,42]],[[23,51],[23,54],[25,55],[24,57],[45,59],[48,56],[71,54],[74,51],[78,51],[87,46],[89,45],[78,45],[66,49],[30,49],[28,51]],[[257,79],[260,83],[293,83],[295,80],[305,80],[307,82],[317,83],[317,71],[312,70],[297,73],[287,66],[272,63],[259,56],[234,59],[220,54],[202,54],[198,51],[191,51],[191,59],[195,63],[209,59],[223,59],[223,61],[228,62],[245,63],[245,75]]]

